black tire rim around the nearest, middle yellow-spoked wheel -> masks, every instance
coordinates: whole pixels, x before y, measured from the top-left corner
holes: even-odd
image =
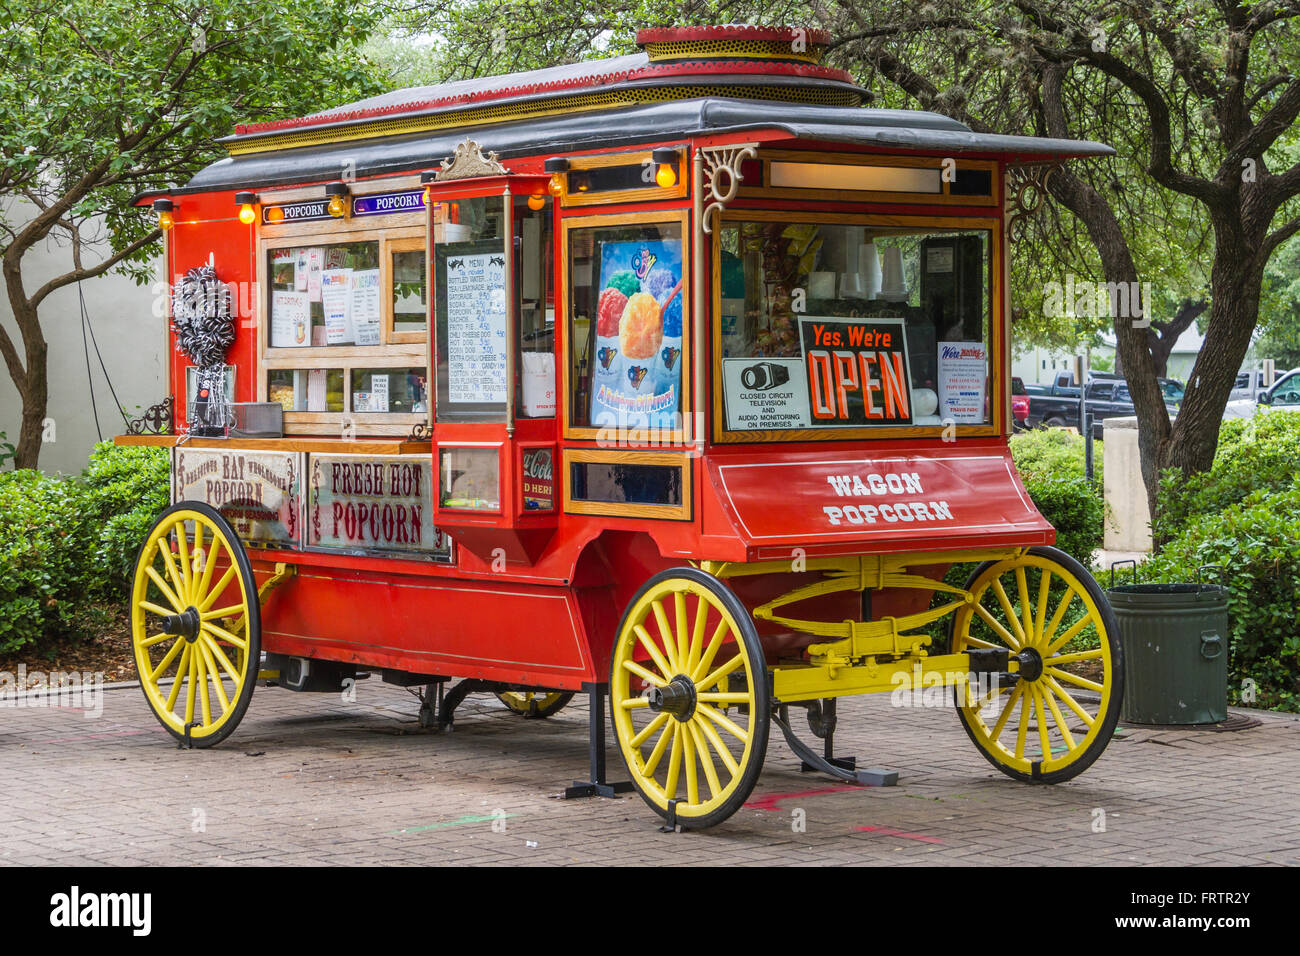
[[[637,605],[641,597],[647,591],[650,591],[650,588],[659,584],[659,581],[668,580],[672,578],[686,578],[699,584],[703,584],[719,598],[722,605],[732,615],[732,619],[740,628],[740,639],[745,643],[745,649],[746,653],[749,654],[749,659],[755,662],[755,669],[758,669],[758,672],[753,675],[754,710],[757,713],[749,715],[749,732],[753,740],[751,757],[749,761],[749,766],[746,766],[741,771],[740,786],[736,787],[734,793],[732,793],[725,801],[723,801],[723,804],[718,809],[712,810],[711,813],[707,813],[702,817],[677,817],[676,821],[682,830],[706,830],[711,826],[722,823],[724,819],[736,813],[736,810],[744,806],[745,801],[749,800],[750,793],[754,792],[754,784],[758,783],[759,774],[763,773],[763,760],[767,756],[767,736],[772,726],[771,724],[772,700],[770,693],[771,683],[768,682],[767,678],[767,663],[766,658],[763,657],[763,645],[758,640],[758,630],[754,627],[754,619],[750,617],[749,609],[745,607],[744,604],[741,604],[741,600],[736,597],[736,593],[731,588],[728,588],[722,580],[719,580],[711,574],[707,574],[706,571],[701,571],[699,568],[672,567],[666,571],[659,571],[658,574],[653,575],[649,580],[646,580],[646,583],[641,585],[637,593],[633,594],[632,600],[628,601],[628,606],[623,613],[623,618],[619,620],[619,633],[620,635],[623,633],[623,630],[627,624],[628,613]],[[611,667],[610,687],[612,688],[614,687],[612,654],[610,656],[610,667]],[[618,724],[614,722],[612,697],[610,706],[610,726],[614,731],[614,739],[618,740],[619,728]],[[623,747],[620,745],[618,750],[619,750],[619,758],[623,761],[623,766],[627,769],[628,777],[632,779],[632,784],[637,791],[637,793],[641,796],[642,800],[645,800],[646,805],[651,810],[654,810],[656,814],[659,814],[663,819],[667,821],[668,812],[662,809],[658,804],[655,804],[641,790],[640,784],[637,783],[637,773],[630,766],[628,766],[627,757],[623,754]]]

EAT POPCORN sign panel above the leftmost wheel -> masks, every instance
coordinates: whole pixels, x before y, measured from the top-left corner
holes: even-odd
[[[302,542],[303,457],[287,451],[173,450],[174,501],[202,501],[250,548]]]

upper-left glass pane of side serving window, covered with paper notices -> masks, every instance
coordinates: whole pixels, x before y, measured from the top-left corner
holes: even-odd
[[[272,248],[266,274],[272,349],[380,343],[377,239]]]

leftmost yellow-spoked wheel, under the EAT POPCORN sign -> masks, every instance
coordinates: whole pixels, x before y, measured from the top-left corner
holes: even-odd
[[[257,682],[261,614],[248,555],[207,505],[173,505],[150,531],[131,644],[144,697],[172,736],[212,747],[235,728]]]

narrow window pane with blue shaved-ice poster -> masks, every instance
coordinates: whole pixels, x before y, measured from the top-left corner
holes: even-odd
[[[681,428],[681,226],[575,229],[569,256],[569,423]]]

